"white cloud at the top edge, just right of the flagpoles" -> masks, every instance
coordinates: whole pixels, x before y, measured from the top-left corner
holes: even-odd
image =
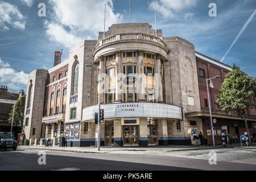
[[[159,2],[156,2],[156,9],[164,18],[174,18],[175,13],[191,9],[197,2],[198,0],[159,0]],[[149,8],[151,10],[155,9],[155,1],[150,3]],[[188,15],[184,16],[184,18],[188,18]]]

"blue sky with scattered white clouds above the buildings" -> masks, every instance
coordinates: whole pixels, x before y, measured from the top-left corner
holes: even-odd
[[[26,91],[28,74],[53,67],[54,52],[98,38],[114,23],[129,23],[129,0],[0,0],[0,85]],[[155,27],[154,0],[131,0],[131,22]],[[46,16],[38,11],[46,5]],[[210,3],[217,16],[209,16]],[[39,6],[39,7],[38,7]],[[255,0],[157,0],[157,28],[195,50],[256,77]]]

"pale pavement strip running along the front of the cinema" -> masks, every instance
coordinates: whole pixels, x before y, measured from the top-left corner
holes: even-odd
[[[158,153],[158,152],[172,152],[172,151],[190,151],[190,150],[209,150],[216,148],[228,148],[228,147],[236,147],[241,148],[239,145],[229,145],[229,146],[180,146],[180,145],[171,145],[171,146],[148,146],[148,147],[139,147],[139,146],[125,146],[125,147],[112,147],[112,146],[101,146],[100,151],[97,150],[97,147],[59,147],[59,146],[18,146],[20,149],[35,149],[35,150],[52,150],[52,151],[67,151],[67,152],[76,152],[76,153],[101,153],[106,154],[109,152],[115,153],[131,153],[131,152],[150,152],[150,153]],[[243,148],[243,147],[242,147]],[[253,146],[245,147],[245,148],[253,148],[256,149],[256,144]]]

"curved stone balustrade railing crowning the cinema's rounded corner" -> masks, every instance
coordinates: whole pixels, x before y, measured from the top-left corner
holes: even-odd
[[[100,40],[96,44],[95,49],[97,49],[100,46],[103,46],[104,44],[108,44],[110,42],[115,42],[115,41],[119,41],[119,40],[146,40],[149,42],[158,43],[161,46],[166,47],[166,43],[164,43],[162,39],[160,39],[154,35],[141,34],[141,33],[125,33],[125,34],[112,35],[105,39]]]

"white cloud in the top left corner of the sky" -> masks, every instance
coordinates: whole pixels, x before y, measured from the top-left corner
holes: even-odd
[[[7,31],[9,26],[24,30],[25,24],[24,16],[16,6],[0,1],[0,30]]]

